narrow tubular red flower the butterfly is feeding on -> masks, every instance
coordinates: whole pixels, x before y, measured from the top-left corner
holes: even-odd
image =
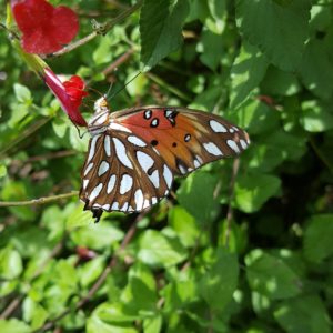
[[[78,77],[71,77],[69,81],[61,82],[60,79],[49,69],[44,69],[46,83],[52,93],[58,98],[63,111],[70,120],[79,127],[87,127],[84,118],[79,111],[83,97],[88,93],[83,90],[84,82]]]

